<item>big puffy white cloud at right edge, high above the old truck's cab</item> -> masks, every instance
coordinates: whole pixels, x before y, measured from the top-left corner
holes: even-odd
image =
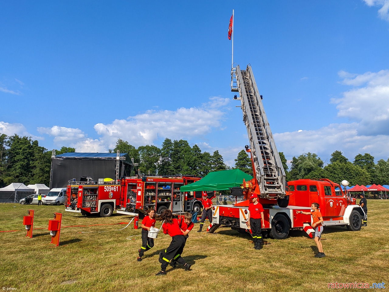
[[[365,86],[345,91],[340,99],[331,99],[338,104],[338,116],[358,122],[358,135],[389,135],[389,70],[351,75],[353,79],[345,78],[342,83]]]

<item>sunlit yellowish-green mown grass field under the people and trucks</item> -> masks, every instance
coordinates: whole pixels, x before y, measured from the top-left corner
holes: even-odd
[[[26,238],[23,216],[35,210],[33,238]],[[191,271],[160,269],[158,253],[170,244],[160,234],[152,250],[137,262],[140,229],[80,233],[123,228],[125,225],[69,227],[61,230],[61,244],[50,244],[48,220],[63,213],[62,226],[129,222],[128,216],[86,217],[65,212],[64,206],[0,204],[0,290],[17,291],[323,291],[329,282],[378,283],[389,286],[389,200],[368,200],[368,227],[359,232],[346,227],[324,229],[326,257],[303,231],[284,240],[266,239],[254,250],[250,237],[228,228],[216,233],[189,234],[183,257]],[[157,223],[157,226],[159,224]],[[75,281],[74,283],[63,283]],[[386,286],[385,286],[386,287]],[[345,289],[342,289],[345,290]],[[349,289],[383,290],[383,289]]]

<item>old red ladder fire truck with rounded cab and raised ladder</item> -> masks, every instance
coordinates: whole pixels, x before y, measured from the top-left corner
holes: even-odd
[[[324,226],[347,226],[357,231],[361,229],[366,214],[356,205],[356,200],[346,197],[339,184],[329,179],[300,179],[286,184],[285,171],[275,145],[269,122],[262,104],[262,95],[252,73],[250,65],[241,70],[239,65],[231,71],[231,91],[239,92],[243,112],[243,121],[247,128],[250,147],[245,146],[251,154],[254,178],[243,181],[241,188],[232,188],[231,195],[243,196],[244,201],[230,206],[213,206],[212,223],[209,232],[214,232],[224,225],[246,232],[249,197],[258,195],[264,207],[265,232],[270,237],[284,239],[290,229],[304,230],[312,237],[314,230],[310,226],[311,216],[297,213],[310,211],[313,202],[320,205]]]

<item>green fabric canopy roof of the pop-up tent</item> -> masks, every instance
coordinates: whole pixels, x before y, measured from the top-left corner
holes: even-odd
[[[195,191],[222,191],[229,190],[234,186],[240,186],[245,181],[252,179],[252,176],[244,173],[240,169],[226,171],[214,171],[204,176],[199,181],[186,186],[181,186],[181,192]]]

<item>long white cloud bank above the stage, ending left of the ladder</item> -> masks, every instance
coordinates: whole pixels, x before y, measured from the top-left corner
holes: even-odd
[[[117,139],[126,140],[134,146],[152,144],[164,137],[190,140],[220,127],[225,114],[222,108],[228,102],[229,99],[212,97],[200,107],[180,107],[175,111],[148,110],[107,125],[98,123],[95,130],[101,136],[102,144],[111,149]]]

